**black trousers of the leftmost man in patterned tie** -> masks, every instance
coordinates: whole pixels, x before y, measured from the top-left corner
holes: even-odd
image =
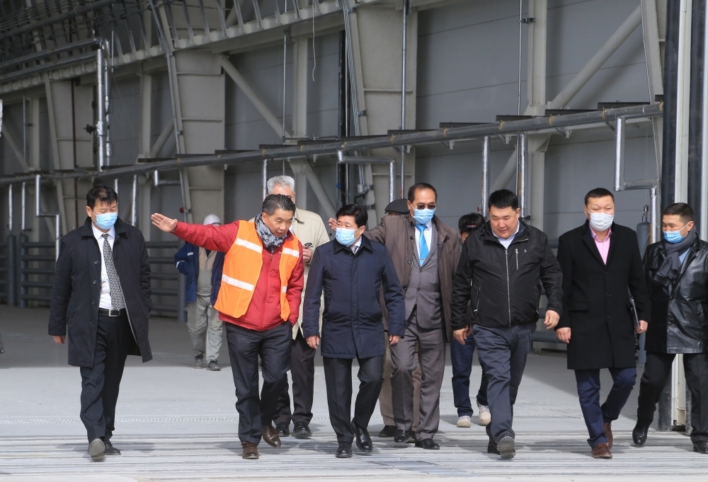
[[[81,421],[89,442],[110,440],[132,331],[127,316],[98,316],[93,367],[81,367]]]

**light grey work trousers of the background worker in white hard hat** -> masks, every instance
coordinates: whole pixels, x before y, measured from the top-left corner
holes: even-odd
[[[202,355],[207,362],[219,360],[224,322],[219,320],[211,297],[197,295],[195,302],[187,305],[187,329],[195,356]]]

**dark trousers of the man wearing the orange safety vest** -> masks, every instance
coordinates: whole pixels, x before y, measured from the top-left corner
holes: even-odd
[[[239,411],[239,440],[258,444],[262,425],[270,425],[278,397],[290,369],[292,326],[281,323],[267,331],[255,331],[226,323],[229,358]],[[261,358],[263,388],[258,396],[258,358]]]

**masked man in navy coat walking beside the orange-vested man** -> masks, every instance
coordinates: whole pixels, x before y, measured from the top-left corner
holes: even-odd
[[[317,348],[324,289],[321,351],[339,458],[351,457],[353,440],[362,452],[373,448],[367,426],[384,374],[384,325],[379,307],[382,287],[389,313],[389,343],[398,343],[406,331],[405,299],[393,260],[385,246],[362,237],[367,219],[366,210],[357,205],[337,212],[336,240],[317,248],[312,258],[302,313],[304,337],[311,348]],[[361,383],[350,421],[354,358],[359,362]]]

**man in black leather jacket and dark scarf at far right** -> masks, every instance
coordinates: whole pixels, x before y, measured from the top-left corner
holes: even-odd
[[[637,445],[646,442],[673,359],[683,353],[693,451],[708,454],[708,243],[698,237],[693,210],[683,202],[666,207],[661,227],[663,240],[646,248],[644,256],[651,324],[632,438]]]

